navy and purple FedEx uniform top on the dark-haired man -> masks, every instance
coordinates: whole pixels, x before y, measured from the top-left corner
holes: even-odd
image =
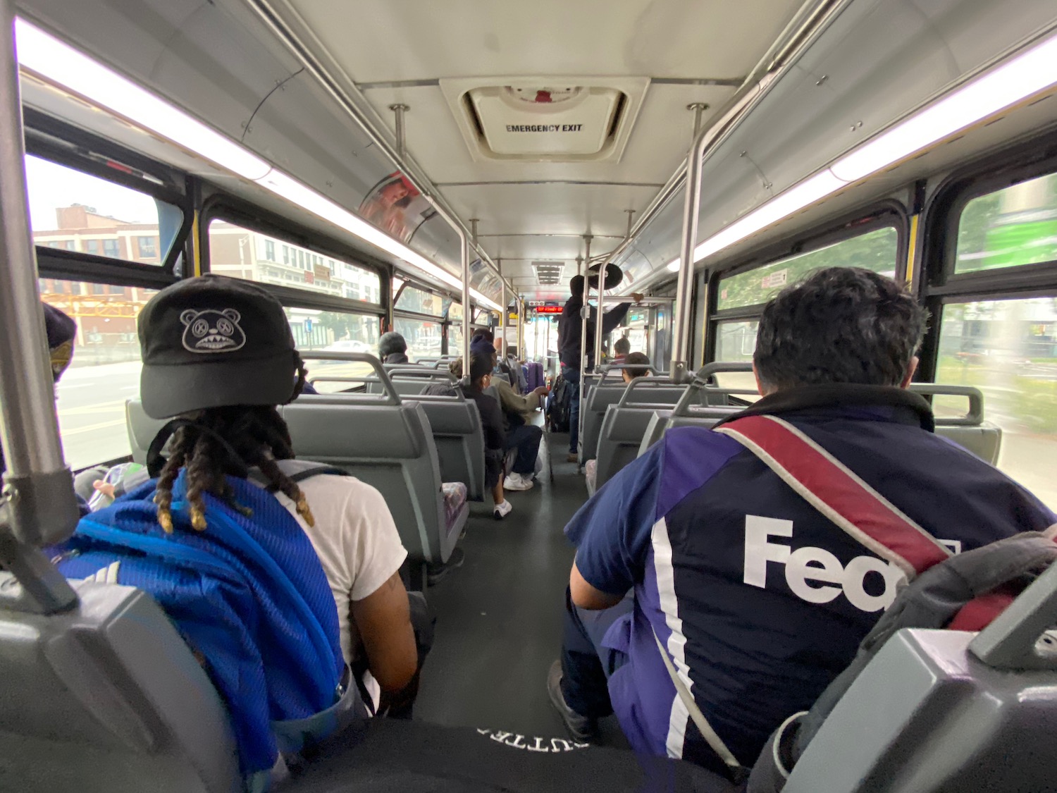
[[[928,403],[909,391],[812,386],[745,414],[781,416],[954,552],[1055,522],[1031,493],[934,435]],[[698,427],[666,432],[565,533],[589,584],[634,588],[634,610],[605,641],[628,654],[609,689],[632,746],[717,770],[654,631],[711,726],[750,766],[851,662],[903,577],[737,441]]]

